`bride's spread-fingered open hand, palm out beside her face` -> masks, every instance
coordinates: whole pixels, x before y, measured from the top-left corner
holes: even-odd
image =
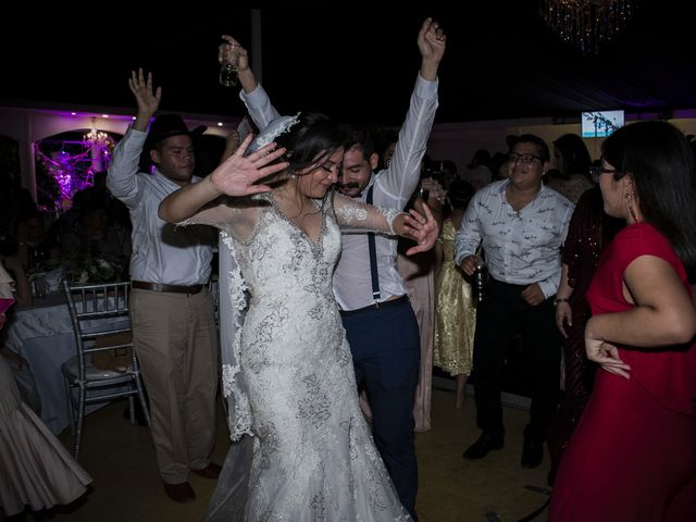
[[[284,148],[274,150],[275,144],[269,144],[245,158],[244,153],[252,139],[252,135],[247,136],[235,153],[212,172],[210,181],[217,190],[227,196],[268,192],[271,187],[258,182],[287,169],[288,163],[285,161],[269,164],[285,153]]]

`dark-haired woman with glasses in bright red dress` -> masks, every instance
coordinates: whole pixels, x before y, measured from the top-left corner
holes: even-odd
[[[605,211],[627,226],[587,290],[600,365],[561,461],[550,521],[696,520],[696,172],[664,122],[602,145]]]

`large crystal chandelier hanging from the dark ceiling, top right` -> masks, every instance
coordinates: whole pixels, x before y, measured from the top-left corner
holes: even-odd
[[[597,54],[631,17],[633,0],[542,0],[544,22],[583,54]]]

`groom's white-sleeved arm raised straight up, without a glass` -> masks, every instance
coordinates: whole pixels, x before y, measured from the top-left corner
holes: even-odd
[[[380,174],[382,189],[399,208],[406,206],[420,179],[421,162],[437,109],[437,70],[445,53],[445,42],[446,36],[437,22],[426,18],[418,35],[421,69],[409,110],[391,162]]]

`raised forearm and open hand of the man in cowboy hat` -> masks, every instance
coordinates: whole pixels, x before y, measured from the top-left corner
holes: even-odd
[[[153,89],[152,74],[148,73],[146,78],[142,69],[137,73],[130,72],[128,87],[138,104],[138,114],[113,151],[107,187],[114,197],[130,206],[137,199],[140,152],[142,152],[150,119],[160,107],[162,88]]]

